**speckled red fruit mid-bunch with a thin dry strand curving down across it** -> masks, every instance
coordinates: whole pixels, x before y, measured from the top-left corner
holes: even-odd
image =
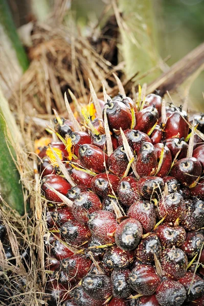
[[[105,197],[112,194],[112,190],[116,193],[120,178],[114,174],[100,173],[93,177],[91,187],[99,196]]]

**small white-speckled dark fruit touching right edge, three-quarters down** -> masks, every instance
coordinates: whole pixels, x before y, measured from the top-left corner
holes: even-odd
[[[185,243],[180,247],[189,258],[193,258],[201,249],[204,237],[199,232],[187,234]]]

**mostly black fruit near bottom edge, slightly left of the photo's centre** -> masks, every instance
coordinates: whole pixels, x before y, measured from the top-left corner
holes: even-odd
[[[110,277],[105,274],[86,275],[82,279],[84,291],[93,299],[106,299],[111,295]]]

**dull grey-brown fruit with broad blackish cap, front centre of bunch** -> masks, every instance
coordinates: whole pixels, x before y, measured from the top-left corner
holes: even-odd
[[[115,240],[118,247],[125,251],[131,251],[137,247],[143,229],[138,220],[128,218],[116,227]]]

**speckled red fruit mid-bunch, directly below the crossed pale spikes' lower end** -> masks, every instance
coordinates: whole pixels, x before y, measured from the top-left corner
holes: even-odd
[[[138,182],[132,176],[124,177],[118,186],[118,197],[123,205],[131,206],[140,199]]]

